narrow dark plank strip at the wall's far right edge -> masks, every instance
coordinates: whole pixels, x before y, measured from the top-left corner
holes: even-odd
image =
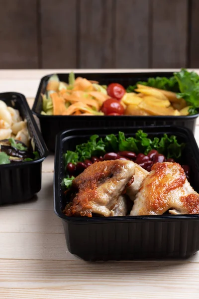
[[[199,1],[191,1],[190,11],[190,67],[199,67]]]

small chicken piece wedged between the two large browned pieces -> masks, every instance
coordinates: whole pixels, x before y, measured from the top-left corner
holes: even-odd
[[[133,183],[126,189],[126,194],[134,201],[137,192],[139,191],[144,178],[149,174],[147,170],[140,165],[135,164],[135,174]]]

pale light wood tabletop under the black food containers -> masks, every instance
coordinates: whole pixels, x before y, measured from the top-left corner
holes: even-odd
[[[39,79],[57,71],[1,70],[0,92],[21,92],[31,106]],[[199,122],[195,137],[199,144]],[[0,207],[0,299],[199,298],[199,253],[180,261],[107,263],[70,254],[53,210],[53,163],[52,155],[43,162],[42,189],[31,202]]]

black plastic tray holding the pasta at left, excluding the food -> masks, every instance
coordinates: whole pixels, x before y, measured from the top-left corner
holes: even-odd
[[[27,120],[35,151],[40,154],[40,158],[34,161],[0,165],[0,204],[24,202],[41,189],[41,164],[48,151],[25,97],[19,93],[7,92],[0,94],[0,100],[19,110],[22,119]]]

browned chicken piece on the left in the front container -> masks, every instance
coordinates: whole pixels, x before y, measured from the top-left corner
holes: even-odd
[[[67,216],[92,217],[92,213],[109,216],[134,173],[135,163],[130,160],[92,164],[73,180],[76,194],[63,212]]]

